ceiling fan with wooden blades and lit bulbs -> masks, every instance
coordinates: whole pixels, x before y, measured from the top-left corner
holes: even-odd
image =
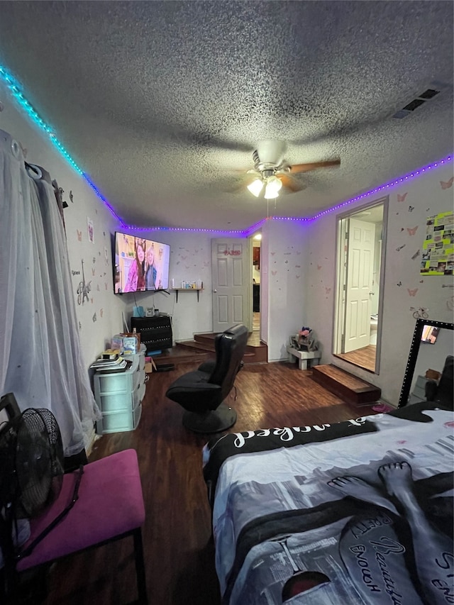
[[[258,197],[263,192],[265,199],[275,199],[282,187],[287,192],[299,192],[305,186],[293,178],[294,174],[341,164],[341,160],[336,158],[325,162],[291,165],[283,159],[286,150],[287,143],[283,140],[264,140],[258,143],[253,152],[254,167],[246,172],[250,179],[247,185],[250,193]]]

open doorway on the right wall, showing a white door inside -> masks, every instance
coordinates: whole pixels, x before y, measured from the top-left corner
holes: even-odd
[[[333,355],[379,373],[387,198],[338,217]]]

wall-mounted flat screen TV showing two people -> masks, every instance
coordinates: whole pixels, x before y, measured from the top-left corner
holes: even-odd
[[[169,261],[170,245],[116,231],[115,293],[166,290]]]

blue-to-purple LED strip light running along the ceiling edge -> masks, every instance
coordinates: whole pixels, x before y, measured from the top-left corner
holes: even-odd
[[[409,179],[413,179],[414,177],[417,177],[420,174],[424,174],[425,172],[428,172],[429,170],[433,170],[433,168],[437,168],[438,166],[441,166],[441,165],[447,164],[448,162],[453,161],[453,156],[448,155],[447,157],[444,157],[442,160],[438,160],[438,162],[433,162],[433,164],[428,164],[427,166],[423,166],[422,168],[419,168],[419,170],[414,170],[413,172],[406,174],[404,177],[399,177],[395,180],[390,181],[389,183],[380,185],[380,187],[375,187],[375,189],[370,189],[369,192],[357,195],[351,199],[341,202],[341,204],[336,204],[336,206],[333,206],[332,208],[329,208],[327,210],[323,210],[323,211],[315,214],[314,216],[306,217],[306,218],[296,217],[296,216],[293,216],[293,217],[292,216],[269,216],[268,218],[264,218],[262,221],[256,223],[255,225],[253,225],[250,228],[245,229],[243,231],[242,230],[229,231],[229,230],[223,230],[223,229],[184,228],[184,227],[145,227],[144,228],[144,227],[138,227],[138,226],[133,226],[133,225],[126,225],[126,223],[124,223],[124,221],[116,214],[116,212],[112,208],[111,204],[109,204],[109,201],[107,201],[106,198],[101,194],[101,192],[99,192],[99,189],[89,178],[88,174],[86,172],[83,172],[79,168],[79,166],[77,166],[76,162],[74,162],[74,160],[72,159],[70,154],[63,147],[62,143],[60,143],[60,141],[57,139],[52,128],[50,128],[50,126],[48,126],[48,124],[46,124],[45,121],[42,118],[40,118],[40,116],[38,115],[38,112],[35,111],[35,109],[33,109],[33,106],[31,106],[31,104],[27,101],[25,96],[23,96],[16,79],[13,78],[13,76],[1,65],[0,65],[0,77],[2,79],[4,79],[4,82],[6,82],[6,86],[10,89],[10,91],[13,94],[16,101],[18,101],[18,104],[26,111],[28,116],[30,116],[31,119],[36,124],[38,124],[38,126],[46,134],[49,135],[50,140],[55,145],[57,150],[59,150],[60,153],[62,154],[62,156],[65,157],[65,160],[67,160],[67,162],[69,162],[70,165],[72,165],[74,170],[76,170],[76,172],[78,172],[81,175],[81,177],[83,177],[87,181],[89,186],[92,187],[96,196],[98,196],[99,199],[101,199],[101,201],[104,202],[104,204],[107,206],[109,211],[111,211],[111,213],[114,215],[114,217],[121,223],[121,226],[123,226],[124,228],[131,229],[132,231],[187,231],[187,232],[197,232],[197,233],[238,233],[240,235],[244,235],[245,237],[248,237],[248,235],[257,231],[262,226],[262,224],[265,223],[265,221],[273,220],[273,221],[294,221],[294,222],[299,222],[299,223],[311,223],[311,222],[315,221],[317,218],[324,216],[325,214],[328,214],[330,212],[344,208],[345,206],[348,206],[349,204],[353,204],[355,201],[360,201],[361,199],[365,199],[371,195],[374,195],[374,194],[377,194],[380,192],[386,192],[388,189],[397,187],[398,185],[400,185],[401,183],[403,183],[405,181],[408,181]]]

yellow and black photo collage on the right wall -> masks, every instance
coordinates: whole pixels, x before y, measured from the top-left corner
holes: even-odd
[[[423,242],[421,274],[453,275],[454,213],[443,212],[428,216],[426,239]]]

